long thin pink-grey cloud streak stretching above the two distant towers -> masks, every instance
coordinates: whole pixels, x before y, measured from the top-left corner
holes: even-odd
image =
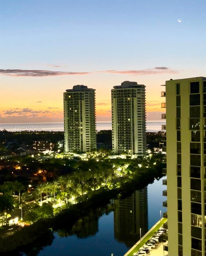
[[[134,76],[154,75],[163,73],[176,74],[179,71],[169,67],[154,67],[142,70],[104,70],[93,72],[71,72],[71,71],[51,71],[51,70],[27,70],[27,69],[0,69],[0,74],[11,77],[51,77],[65,75],[88,75],[91,73],[113,73],[113,74],[130,74]]]

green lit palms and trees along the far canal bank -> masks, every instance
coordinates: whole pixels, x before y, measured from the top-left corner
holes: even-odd
[[[3,244],[8,244],[4,250],[9,251],[31,243],[42,233],[47,234],[49,228],[53,231],[64,229],[87,214],[89,209],[107,205],[111,199],[124,198],[134,190],[143,189],[153,183],[154,179],[162,177],[162,157],[161,154],[150,154],[140,159],[102,158],[78,161],[51,158],[46,163],[28,158],[26,168],[33,167],[35,162],[35,174],[41,177],[38,184],[27,184],[25,187],[16,182],[15,189],[11,189],[14,183],[11,186],[10,182],[5,182],[1,186],[3,195],[0,198],[15,194],[12,197],[13,205],[21,206],[23,221],[33,224],[7,232],[7,236],[0,239],[0,248]],[[25,159],[23,161],[25,163]],[[57,161],[68,173],[59,177],[46,176],[52,163]],[[18,164],[22,167],[20,161]],[[55,164],[53,167],[55,168]],[[5,209],[11,211],[12,207],[6,205],[2,209],[3,216]],[[31,232],[34,235],[26,238]]]

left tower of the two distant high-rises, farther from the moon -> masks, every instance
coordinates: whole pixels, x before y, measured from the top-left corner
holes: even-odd
[[[64,92],[64,150],[86,152],[96,148],[95,89],[73,86]]]

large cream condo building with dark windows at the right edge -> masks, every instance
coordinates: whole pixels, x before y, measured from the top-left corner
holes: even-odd
[[[206,255],[205,77],[166,81],[166,152],[168,255]]]

